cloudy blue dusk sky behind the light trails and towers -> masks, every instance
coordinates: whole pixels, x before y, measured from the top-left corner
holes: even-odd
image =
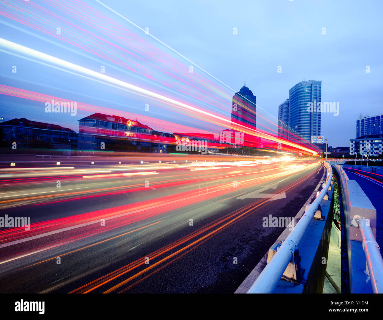
[[[234,93],[233,90],[239,91],[246,78],[247,87],[257,96],[257,111],[264,115],[267,112],[278,118],[278,105],[288,98],[289,89],[302,81],[304,74],[305,80],[322,81],[322,102],[339,102],[339,115],[321,115],[321,135],[328,138],[329,145],[349,146],[349,140],[355,138],[355,121],[360,113],[370,116],[383,113],[381,1],[102,2],[142,29],[149,28],[151,35],[219,80],[195,67],[195,72],[211,80],[221,90],[212,95],[222,98],[221,107],[205,106],[210,111],[228,115],[231,108],[230,96]],[[46,7],[44,3],[36,3]],[[86,3],[144,37],[141,30],[107,10],[99,2],[89,0]],[[66,43],[65,47],[58,46],[56,39],[52,40],[46,34],[40,34],[4,16],[0,16],[0,20],[0,38],[90,69],[98,68],[99,64],[89,58],[90,54],[84,58],[82,51],[71,51]],[[57,25],[60,25],[59,21]],[[19,29],[14,28],[15,26]],[[29,30],[32,34],[21,30]],[[46,39],[55,41],[55,44]],[[190,64],[154,39],[148,41],[173,59],[186,66]],[[13,65],[17,65],[17,73],[10,71]],[[366,72],[367,66],[370,72]],[[0,51],[0,68],[0,85],[44,92],[52,96],[63,96],[63,93],[67,93],[66,96],[70,99],[116,110],[123,109],[125,104],[134,105],[131,110],[136,114],[142,113],[141,105],[156,104],[139,96],[125,95],[110,86],[95,86],[94,82],[83,77],[53,70],[9,52]],[[282,72],[278,72],[278,68]],[[113,72],[113,77],[131,80],[131,83],[142,84],[142,87],[156,92],[169,93],[166,85],[162,89],[158,82],[151,86],[144,79],[133,75],[134,72],[129,75],[123,73],[123,70]],[[185,78],[189,76],[185,74]],[[207,87],[206,83],[201,87]],[[168,96],[186,99],[175,92]],[[0,112],[5,120],[21,118],[22,115],[28,119],[49,120],[50,115],[40,114],[41,108],[36,111],[36,101],[27,103],[25,99],[5,95],[0,95],[0,99]],[[188,101],[191,100],[189,96]],[[224,106],[226,103],[227,111]],[[181,124],[198,126],[196,119],[190,121],[183,115],[170,115],[164,113],[163,108],[153,107],[151,112],[153,118],[174,121],[178,117],[177,121]],[[79,116],[88,114],[79,111]],[[277,123],[271,116],[268,117],[270,121]],[[78,116],[70,117],[66,114],[60,117],[60,121],[75,131],[78,131],[77,119]],[[204,124],[202,127],[217,130],[216,126]]]

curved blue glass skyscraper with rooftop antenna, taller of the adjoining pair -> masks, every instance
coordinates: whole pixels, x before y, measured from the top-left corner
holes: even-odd
[[[322,81],[316,80],[297,83],[289,91],[289,131],[308,142],[311,136],[321,135],[321,112],[316,112],[321,102],[321,91]],[[308,111],[310,103],[314,108]]]

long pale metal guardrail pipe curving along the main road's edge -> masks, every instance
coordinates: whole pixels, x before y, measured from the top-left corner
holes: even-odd
[[[286,240],[282,243],[277,250],[273,258],[265,266],[262,273],[255,280],[254,284],[250,287],[247,293],[273,293],[278,282],[282,278],[291,258],[294,257],[294,253],[298,248],[298,245],[310,225],[316,211],[319,209],[324,196],[327,194],[327,190],[332,180],[332,168],[327,162],[324,163],[327,168],[327,183],[326,186],[319,193],[318,197],[310,205],[309,209],[303,214],[301,219],[296,224],[295,228],[288,235]]]

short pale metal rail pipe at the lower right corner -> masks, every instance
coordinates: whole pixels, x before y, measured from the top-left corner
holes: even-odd
[[[383,259],[380,255],[379,245],[376,243],[370,224],[366,219],[359,220],[359,229],[363,239],[362,247],[366,256],[372,291],[383,293]]]

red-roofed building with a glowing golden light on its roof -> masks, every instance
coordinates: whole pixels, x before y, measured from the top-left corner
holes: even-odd
[[[94,113],[79,122],[79,150],[100,151],[104,142],[105,150],[151,151],[152,128],[137,120]]]

